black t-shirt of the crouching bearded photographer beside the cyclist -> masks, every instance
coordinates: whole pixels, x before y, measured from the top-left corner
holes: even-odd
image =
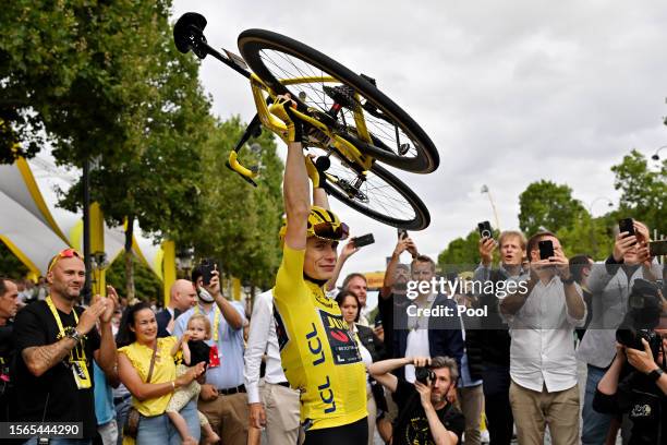
[[[393,393],[393,400],[396,400],[399,407],[397,422],[400,423],[395,425],[393,444],[434,445],[435,441],[430,434],[428,419],[422,407],[420,393],[417,393],[414,385],[399,378],[396,392]],[[410,413],[403,414],[404,410],[408,410]],[[463,414],[449,404],[445,408],[436,410],[436,413],[447,431],[451,431],[459,437],[460,444],[463,431],[465,431],[465,418]]]

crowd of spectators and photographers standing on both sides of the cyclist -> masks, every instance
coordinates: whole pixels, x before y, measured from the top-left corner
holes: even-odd
[[[401,237],[375,311],[363,274],[336,286],[340,264],[362,251],[349,241],[325,286],[366,369],[368,443],[543,444],[547,430],[554,444],[613,444],[619,433],[630,444],[667,443],[665,268],[648,240],[634,221],[634,234],[619,233],[595,262],[567,258],[548,231],[527,240],[506,231],[481,238],[478,265],[458,274],[438,272]],[[438,273],[444,291],[409,297],[410,281]],[[82,306],[84,275],[68,249],[36,287],[0,278],[2,421],[81,422],[81,438],[52,444],[303,441],[271,290],[246,314],[222,296],[217,270],[196,268],[160,311],[123,304],[111,287]],[[524,286],[508,291],[508,282]]]

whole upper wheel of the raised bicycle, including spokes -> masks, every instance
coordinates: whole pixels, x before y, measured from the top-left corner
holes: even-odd
[[[331,110],[333,97],[337,104],[342,100],[336,127],[343,133],[356,136],[352,110],[361,107],[372,143],[355,144],[360,152],[415,173],[429,173],[438,167],[438,152],[428,135],[368,77],[354,74],[304,44],[265,29],[241,33],[239,50],[255,74],[278,94],[290,93],[294,100],[325,113]],[[324,81],[326,77],[338,82]],[[281,83],[294,79],[308,81]]]

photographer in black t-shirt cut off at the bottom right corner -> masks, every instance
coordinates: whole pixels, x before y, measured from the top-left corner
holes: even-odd
[[[656,294],[659,296],[657,290]],[[616,358],[597,384],[593,399],[593,409],[598,412],[628,413],[632,421],[630,445],[667,445],[667,303],[664,299],[662,308],[659,324],[653,325],[654,330],[619,329]]]

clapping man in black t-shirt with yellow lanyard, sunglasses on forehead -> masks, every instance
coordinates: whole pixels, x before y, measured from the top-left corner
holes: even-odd
[[[89,444],[97,433],[93,394],[93,359],[108,373],[116,365],[111,317],[118,302],[96,296],[84,310],[78,305],[85,281],[83,256],[73,249],[56,255],[48,266],[49,296],[16,315],[17,418],[24,422],[81,422],[82,438]],[[100,333],[96,328],[99,322]],[[51,444],[60,440],[51,438]],[[37,444],[33,437],[27,444]]]

